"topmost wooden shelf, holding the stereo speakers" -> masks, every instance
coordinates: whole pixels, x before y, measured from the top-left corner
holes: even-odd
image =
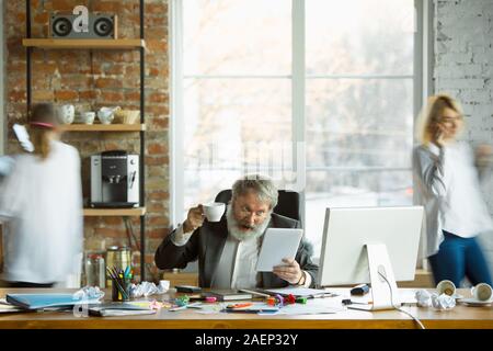
[[[134,49],[146,47],[144,39],[47,39],[25,38],[22,45],[38,48],[95,48],[95,49]]]

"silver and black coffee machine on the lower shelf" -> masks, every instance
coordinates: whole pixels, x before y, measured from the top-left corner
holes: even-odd
[[[91,207],[139,206],[139,156],[124,150],[91,156]]]

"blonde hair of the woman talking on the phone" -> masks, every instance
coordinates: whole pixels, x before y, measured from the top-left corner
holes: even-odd
[[[448,94],[440,93],[428,98],[426,106],[420,113],[416,123],[416,138],[424,145],[433,140],[433,125],[440,122],[445,109],[451,109],[463,116],[459,102]]]

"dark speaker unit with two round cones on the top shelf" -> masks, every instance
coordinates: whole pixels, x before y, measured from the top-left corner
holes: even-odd
[[[74,31],[74,25],[81,25],[79,16],[78,14],[51,14],[49,18],[49,36],[67,39],[117,38],[117,16],[115,14],[89,13],[87,32]],[[78,20],[76,21],[76,19]]]

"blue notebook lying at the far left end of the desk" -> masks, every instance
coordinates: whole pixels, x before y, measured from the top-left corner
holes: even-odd
[[[25,309],[98,304],[99,299],[74,298],[72,294],[7,294],[9,304]]]

